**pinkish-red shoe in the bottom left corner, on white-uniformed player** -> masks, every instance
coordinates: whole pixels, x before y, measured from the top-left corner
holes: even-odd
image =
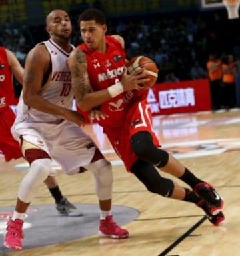
[[[21,219],[15,219],[15,221],[7,221],[7,229],[4,236],[4,246],[9,249],[21,250],[23,239],[23,221]]]

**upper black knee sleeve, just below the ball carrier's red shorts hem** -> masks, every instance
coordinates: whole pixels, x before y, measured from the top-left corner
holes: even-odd
[[[139,159],[159,168],[165,167],[169,160],[167,151],[155,147],[153,138],[147,131],[140,131],[131,137],[131,148]]]

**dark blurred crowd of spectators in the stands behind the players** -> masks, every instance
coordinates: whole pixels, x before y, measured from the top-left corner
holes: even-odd
[[[77,14],[73,15],[73,45],[81,43]],[[209,55],[223,61],[233,55],[239,68],[239,19],[228,20],[221,11],[197,13],[168,13],[109,19],[107,33],[117,33],[125,39],[127,57],[146,55],[159,67],[158,82],[207,78]],[[25,24],[0,26],[0,45],[11,49],[24,63],[29,49],[47,39],[43,26]],[[238,70],[237,70],[238,71]]]

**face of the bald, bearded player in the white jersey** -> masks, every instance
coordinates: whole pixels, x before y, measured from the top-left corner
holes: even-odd
[[[65,11],[53,11],[51,15],[49,15],[47,31],[50,36],[69,39],[72,33],[72,25],[69,15]]]

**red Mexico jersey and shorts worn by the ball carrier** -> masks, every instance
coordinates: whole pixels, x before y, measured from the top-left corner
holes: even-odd
[[[121,43],[114,37],[106,37],[107,52],[91,51],[85,43],[78,46],[87,57],[87,71],[93,91],[106,89],[121,81],[125,67],[125,51]],[[137,161],[137,156],[131,149],[131,137],[139,131],[147,131],[153,138],[153,144],[159,147],[151,125],[151,111],[146,102],[147,91],[126,91],[103,103],[100,110],[108,115],[99,121],[103,126],[111,145],[123,160],[127,171]]]

